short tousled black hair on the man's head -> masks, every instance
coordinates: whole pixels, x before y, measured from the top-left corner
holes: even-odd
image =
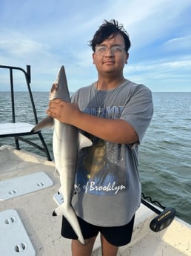
[[[110,36],[115,36],[120,34],[124,38],[125,50],[128,52],[130,49],[130,37],[127,31],[124,29],[123,24],[118,24],[115,19],[111,19],[110,22],[104,20],[104,23],[101,24],[99,29],[96,31],[93,39],[89,42],[90,47],[92,47],[93,52],[95,52],[96,45],[100,45],[104,42],[105,39],[108,39]]]

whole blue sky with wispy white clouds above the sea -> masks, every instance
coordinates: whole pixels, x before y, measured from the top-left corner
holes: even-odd
[[[31,65],[33,91],[49,91],[64,65],[76,91],[97,79],[88,41],[104,19],[117,19],[132,42],[127,79],[152,91],[191,91],[190,13],[191,0],[1,0],[0,64]],[[0,79],[4,91],[4,73]]]

